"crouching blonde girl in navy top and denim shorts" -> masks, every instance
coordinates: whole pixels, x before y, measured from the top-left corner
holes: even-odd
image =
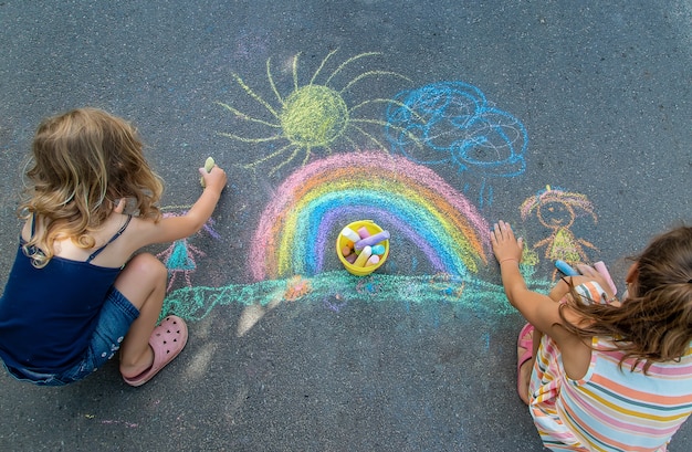
[[[200,168],[206,188],[182,217],[162,218],[162,186],[136,129],[95,108],[45,119],[27,172],[25,220],[0,298],[0,358],[18,379],[59,386],[95,371],[119,349],[120,374],[140,386],[187,343],[176,316],[159,326],[167,270],[141,248],[184,239],[213,212],[227,181]],[[125,214],[125,206],[133,214]]]

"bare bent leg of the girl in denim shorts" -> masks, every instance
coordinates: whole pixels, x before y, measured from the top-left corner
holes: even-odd
[[[154,362],[149,337],[156,326],[164,297],[168,271],[154,255],[137,254],[115,281],[115,287],[139,309],[120,346],[120,374],[135,377]]]

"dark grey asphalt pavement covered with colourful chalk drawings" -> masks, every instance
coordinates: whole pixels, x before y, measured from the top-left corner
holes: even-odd
[[[0,43],[0,283],[48,115],[132,120],[166,214],[208,156],[229,175],[199,234],[147,250],[184,353],[140,388],[0,374],[2,451],[541,451],[490,225],[535,290],[556,255],[622,290],[692,221],[689,0],[6,0]],[[356,220],[391,234],[366,276],[336,255]]]

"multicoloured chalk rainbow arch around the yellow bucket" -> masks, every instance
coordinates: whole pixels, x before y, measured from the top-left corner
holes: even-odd
[[[436,273],[464,276],[487,263],[490,225],[476,209],[401,156],[333,155],[296,170],[276,192],[250,246],[255,281],[321,273],[342,228],[361,219],[407,239]]]

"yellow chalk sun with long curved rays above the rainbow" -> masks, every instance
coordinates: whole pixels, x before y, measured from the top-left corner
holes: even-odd
[[[366,117],[366,113],[363,112],[367,112],[366,107],[373,104],[388,104],[394,101],[388,98],[369,98],[356,105],[349,105],[345,93],[352,92],[358,82],[368,77],[394,77],[407,82],[411,81],[396,72],[364,71],[345,82],[343,86],[336,87],[337,75],[343,74],[354,62],[380,55],[380,53],[367,52],[352,56],[340,63],[328,75],[323,75],[329,65],[331,57],[335,53],[336,50],[329,52],[322,60],[322,63],[306,84],[298,82],[300,53],[295,55],[292,62],[293,88],[287,95],[281,93],[277,87],[276,80],[272,74],[271,59],[266,60],[266,78],[274,94],[274,102],[265,99],[251,88],[240,75],[233,74],[235,82],[251,98],[261,105],[265,111],[265,115],[269,114],[270,118],[264,119],[260,116],[251,116],[222,102],[218,104],[231,112],[234,118],[241,123],[266,129],[268,135],[254,138],[231,133],[221,133],[220,135],[243,143],[279,146],[271,154],[243,165],[244,168],[256,169],[260,165],[271,164],[273,167],[269,171],[269,176],[272,176],[301,154],[304,154],[302,164],[305,165],[316,149],[323,149],[326,154],[331,154],[336,147],[358,149],[359,145],[356,143],[358,135],[360,135],[361,139],[365,139],[368,147],[388,151],[388,147],[381,143],[370,128],[373,126],[378,128],[388,126],[391,129],[396,129],[396,126],[387,125],[387,123],[380,119]],[[318,81],[321,83],[317,83]],[[400,132],[406,134],[405,130]],[[416,137],[409,137],[409,140],[416,141]]]

